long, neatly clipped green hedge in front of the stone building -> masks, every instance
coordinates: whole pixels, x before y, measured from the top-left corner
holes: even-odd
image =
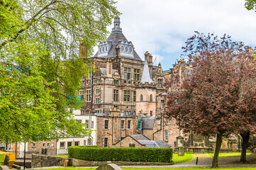
[[[68,147],[69,158],[87,161],[172,162],[172,148]]]

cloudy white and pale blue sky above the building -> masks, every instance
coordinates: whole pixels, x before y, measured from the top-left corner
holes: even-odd
[[[157,56],[162,69],[172,68],[184,55],[182,46],[199,33],[227,34],[233,41],[256,46],[256,13],[244,0],[117,0],[121,28],[142,60]],[[113,24],[108,27],[111,32]]]

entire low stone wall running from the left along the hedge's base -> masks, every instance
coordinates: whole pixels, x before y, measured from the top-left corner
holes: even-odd
[[[32,155],[32,168],[40,168],[46,166],[101,166],[104,164],[117,164],[121,165],[170,165],[172,163],[166,162],[94,162],[84,161],[81,159],[54,157],[44,154],[33,154]]]

